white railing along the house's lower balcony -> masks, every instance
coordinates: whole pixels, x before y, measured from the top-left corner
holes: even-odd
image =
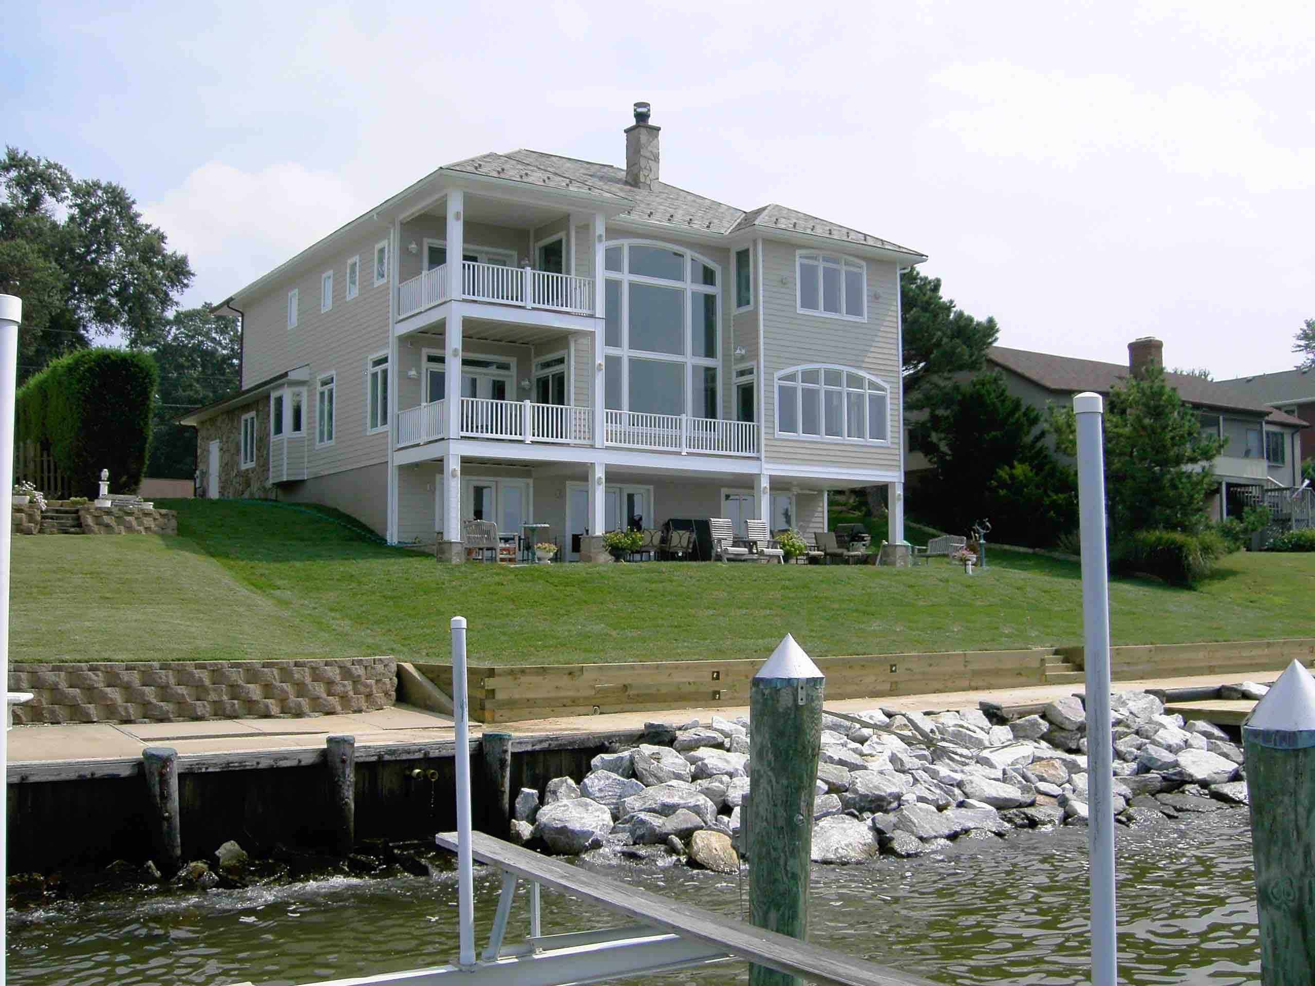
[[[501,442],[593,444],[589,408],[533,401],[462,397],[460,435]],[[398,448],[441,442],[447,434],[447,401],[431,401],[397,413]],[[602,440],[614,448],[640,448],[677,455],[757,455],[757,425],[747,421],[693,418],[688,414],[604,411]]]

